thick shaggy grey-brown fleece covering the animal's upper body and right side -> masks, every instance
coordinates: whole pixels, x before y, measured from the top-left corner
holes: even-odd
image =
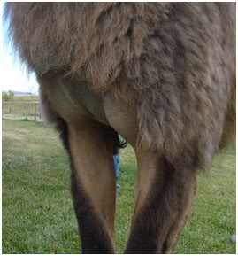
[[[234,140],[235,3],[7,3],[5,17],[29,71],[121,99],[170,162],[206,168]]]

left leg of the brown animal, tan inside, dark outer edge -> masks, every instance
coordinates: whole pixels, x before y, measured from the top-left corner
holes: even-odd
[[[112,128],[84,120],[68,125],[72,166],[73,206],[79,223],[83,253],[114,253],[116,184]]]

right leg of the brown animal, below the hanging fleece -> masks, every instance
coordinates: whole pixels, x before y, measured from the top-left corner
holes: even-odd
[[[188,219],[196,172],[176,169],[156,152],[136,153],[135,209],[125,253],[172,253]]]

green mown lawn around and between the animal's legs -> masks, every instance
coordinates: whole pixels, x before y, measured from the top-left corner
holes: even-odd
[[[134,152],[121,151],[116,214],[119,253],[134,212]],[[69,190],[67,155],[52,128],[33,121],[3,120],[3,253],[81,253]],[[235,147],[200,175],[191,220],[176,253],[235,253]]]

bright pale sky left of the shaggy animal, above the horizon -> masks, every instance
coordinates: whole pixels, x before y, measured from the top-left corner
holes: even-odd
[[[3,2],[1,3],[1,17],[3,14]],[[1,52],[0,52],[0,66],[1,66],[1,87],[2,91],[23,91],[38,94],[39,85],[35,80],[35,74],[27,75],[26,69],[14,58],[13,50],[7,44],[5,36],[5,24],[2,22],[1,29]]]

